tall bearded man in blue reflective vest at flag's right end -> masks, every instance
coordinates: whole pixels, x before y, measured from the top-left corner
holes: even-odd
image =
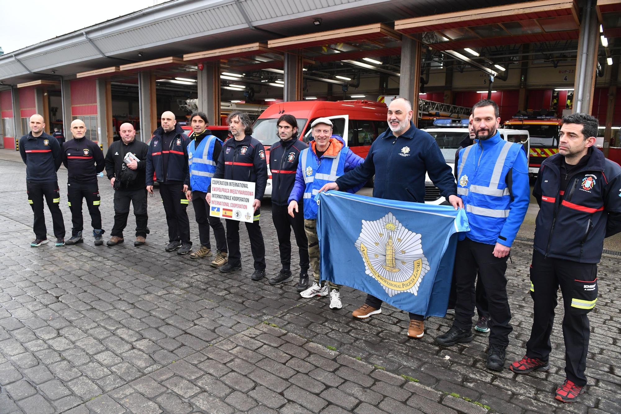
[[[460,150],[457,193],[466,208],[470,231],[460,234],[455,253],[457,301],[449,331],[435,341],[442,346],[473,340],[474,281],[483,282],[491,319],[487,368],[504,367],[512,326],[507,300],[507,259],[528,209],[528,163],[522,145],[497,131],[501,121],[494,101],[473,106],[476,141]]]

